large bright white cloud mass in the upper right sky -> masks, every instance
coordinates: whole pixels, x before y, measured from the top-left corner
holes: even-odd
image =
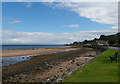
[[[75,12],[80,17],[88,18],[100,24],[118,25],[117,2],[61,2],[50,3],[49,6]]]

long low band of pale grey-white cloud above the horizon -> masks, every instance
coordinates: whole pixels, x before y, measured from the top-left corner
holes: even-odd
[[[1,31],[0,31],[1,32]],[[92,40],[100,35],[111,35],[117,30],[79,31],[75,33],[16,32],[3,30],[3,44],[65,44],[73,41]]]

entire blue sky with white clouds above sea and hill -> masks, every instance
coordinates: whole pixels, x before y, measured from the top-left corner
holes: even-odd
[[[3,44],[66,44],[118,31],[117,2],[3,2]]]

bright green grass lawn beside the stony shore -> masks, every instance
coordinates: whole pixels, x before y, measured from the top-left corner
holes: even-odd
[[[83,66],[66,77],[63,82],[118,82],[118,62],[110,62],[109,56],[115,50],[109,49],[102,53],[92,63]],[[118,57],[120,56],[120,52]]]

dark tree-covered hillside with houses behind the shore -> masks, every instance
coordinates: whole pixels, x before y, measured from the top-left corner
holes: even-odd
[[[103,46],[119,46],[120,47],[120,32],[114,35],[101,35],[98,39],[84,40],[83,42],[73,42],[67,45],[103,45]]]

